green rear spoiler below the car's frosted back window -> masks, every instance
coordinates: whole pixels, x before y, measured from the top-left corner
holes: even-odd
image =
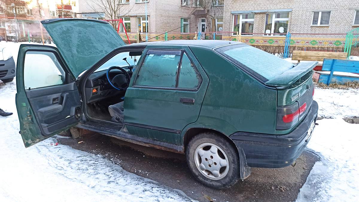
[[[283,72],[282,74],[278,75],[275,78],[270,79],[264,84],[268,86],[275,86],[275,87],[290,86],[294,82],[296,82],[300,77],[304,76],[306,73],[311,71],[317,64],[318,64],[317,61],[298,63],[297,65],[293,66],[292,69]]]

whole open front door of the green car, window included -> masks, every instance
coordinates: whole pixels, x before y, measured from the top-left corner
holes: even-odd
[[[75,77],[56,47],[20,45],[16,87],[25,147],[79,122],[82,113]]]

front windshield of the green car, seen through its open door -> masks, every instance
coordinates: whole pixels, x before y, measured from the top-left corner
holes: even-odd
[[[101,65],[95,72],[107,70],[111,66],[128,67],[129,64],[123,60],[124,58],[127,59],[127,62],[130,63],[131,66],[135,66],[140,56],[130,56],[129,54],[130,52],[120,52],[119,54],[113,56],[111,59],[107,60],[107,62]]]

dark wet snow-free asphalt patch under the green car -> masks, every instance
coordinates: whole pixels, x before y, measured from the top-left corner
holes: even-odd
[[[252,168],[251,175],[229,189],[208,188],[191,175],[185,155],[140,146],[98,133],[78,139],[57,136],[60,144],[102,155],[126,171],[181,190],[198,201],[295,201],[314,163],[320,158],[305,150],[295,166],[279,169]],[[79,143],[80,141],[83,141]]]

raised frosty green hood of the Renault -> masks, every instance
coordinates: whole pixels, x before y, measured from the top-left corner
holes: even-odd
[[[57,18],[41,23],[75,77],[112,50],[126,45],[115,29],[102,20]]]

